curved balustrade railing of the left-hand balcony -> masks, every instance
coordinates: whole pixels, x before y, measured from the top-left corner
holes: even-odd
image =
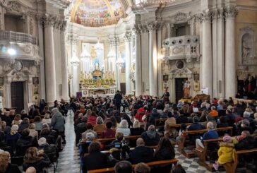
[[[0,40],[7,42],[29,42],[31,44],[37,45],[37,38],[32,37],[32,35],[21,32],[1,30]]]

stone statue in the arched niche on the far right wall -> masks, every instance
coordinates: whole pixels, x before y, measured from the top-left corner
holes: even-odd
[[[243,35],[241,45],[241,57],[242,61],[244,62],[246,60],[251,59],[252,42],[251,35],[249,33]]]

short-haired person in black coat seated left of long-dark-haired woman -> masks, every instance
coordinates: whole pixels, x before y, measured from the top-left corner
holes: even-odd
[[[153,161],[153,149],[145,147],[143,138],[136,140],[136,148],[129,154],[132,164]]]

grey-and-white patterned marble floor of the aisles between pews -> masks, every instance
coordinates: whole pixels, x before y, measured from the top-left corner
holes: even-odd
[[[73,114],[68,115],[66,117],[66,141],[67,144],[64,146],[64,150],[61,151],[59,160],[58,160],[58,167],[56,172],[63,173],[63,172],[74,172],[79,173],[80,171],[80,160],[78,154],[78,147],[76,147],[75,141],[75,133],[73,129]],[[205,167],[198,165],[197,158],[187,159],[184,155],[181,155],[179,152],[176,151],[176,158],[179,160],[179,163],[184,167],[187,173],[204,173],[209,172]],[[48,169],[49,173],[53,172],[53,169]],[[237,172],[251,172],[246,171],[245,169],[238,169]],[[223,172],[222,172],[223,173]]]

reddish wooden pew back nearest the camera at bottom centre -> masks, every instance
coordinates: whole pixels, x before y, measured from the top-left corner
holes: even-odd
[[[172,160],[160,160],[160,161],[154,161],[154,162],[148,162],[146,163],[149,167],[157,167],[157,166],[167,166],[167,165],[177,165],[177,162],[179,160],[177,159],[172,159]],[[136,164],[132,165],[132,167],[136,167]],[[98,172],[114,172],[114,167],[108,167],[108,168],[103,168],[103,169],[95,169],[95,170],[90,170],[88,173],[98,173]]]

